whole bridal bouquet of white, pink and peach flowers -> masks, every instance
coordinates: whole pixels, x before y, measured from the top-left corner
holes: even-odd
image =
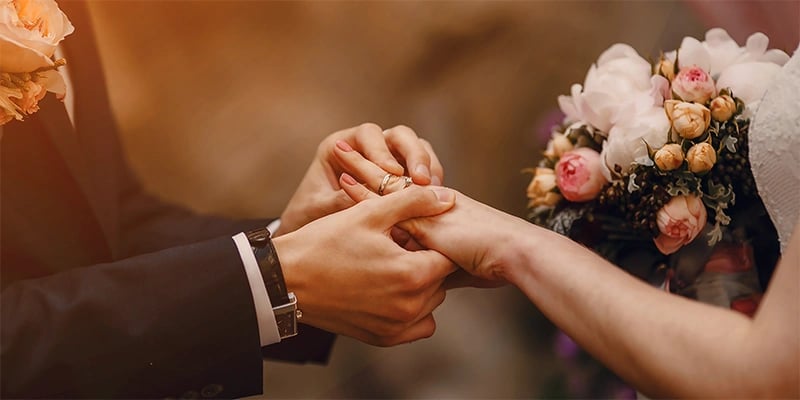
[[[566,117],[531,170],[530,220],[653,285],[752,312],[759,291],[740,284],[765,281],[747,271],[748,260],[766,257],[755,261],[771,271],[778,251],[750,171],[748,133],[789,59],[767,45],[760,33],[742,47],[712,29],[650,62],[611,46],[583,85],[558,99]],[[762,245],[769,251],[754,253]],[[719,272],[735,279],[704,281]]]

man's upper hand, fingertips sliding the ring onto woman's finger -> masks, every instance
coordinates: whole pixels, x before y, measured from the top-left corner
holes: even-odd
[[[314,160],[281,215],[276,236],[354,204],[338,182],[347,169],[336,157],[337,151],[362,154],[376,168],[405,174],[420,185],[440,184],[443,179],[442,165],[433,149],[407,127],[383,130],[375,124],[362,124],[333,133],[317,147]]]

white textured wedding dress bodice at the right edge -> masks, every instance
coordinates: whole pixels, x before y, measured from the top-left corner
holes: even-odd
[[[800,218],[800,47],[764,95],[749,140],[753,177],[784,253]]]

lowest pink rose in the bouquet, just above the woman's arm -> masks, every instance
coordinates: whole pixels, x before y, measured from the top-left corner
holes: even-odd
[[[653,239],[664,254],[672,254],[691,243],[706,226],[706,206],[697,196],[673,197],[656,215],[661,234]]]

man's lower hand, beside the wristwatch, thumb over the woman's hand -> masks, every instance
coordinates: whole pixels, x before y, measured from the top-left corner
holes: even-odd
[[[454,191],[411,187],[363,201],[273,239],[302,322],[366,343],[391,346],[433,334],[432,312],[457,267],[432,250],[391,238],[400,221],[453,207]]]

